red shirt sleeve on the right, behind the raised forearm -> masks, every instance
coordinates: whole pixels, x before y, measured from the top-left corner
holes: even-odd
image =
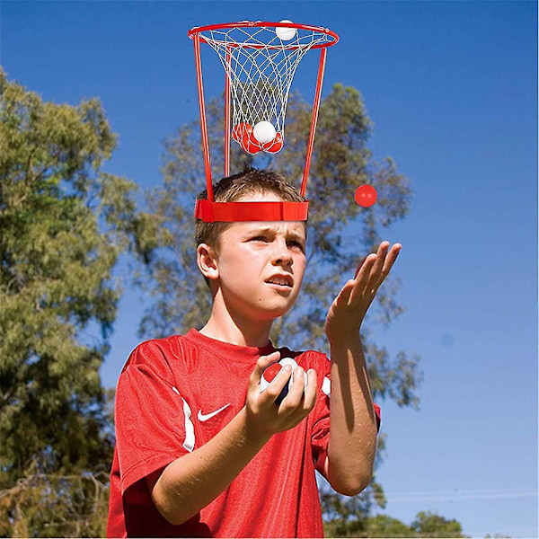
[[[323,466],[328,455],[330,441],[331,360],[325,354],[320,354],[318,363],[320,367],[316,368],[316,376],[319,380],[319,388],[313,411],[315,420],[311,433],[311,448],[314,468],[325,477]],[[320,382],[321,379],[322,382]],[[376,413],[376,429],[379,432],[380,407],[376,403],[373,404]]]

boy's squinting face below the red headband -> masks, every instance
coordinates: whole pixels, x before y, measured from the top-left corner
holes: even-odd
[[[274,193],[250,194],[242,201],[280,201]],[[249,221],[228,227],[209,275],[231,314],[268,320],[286,314],[296,302],[305,273],[303,221]],[[286,276],[291,286],[268,281]],[[215,301],[215,300],[214,300]]]

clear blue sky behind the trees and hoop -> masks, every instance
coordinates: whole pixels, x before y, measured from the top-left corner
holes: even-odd
[[[403,246],[394,272],[406,312],[376,339],[393,355],[419,354],[425,380],[420,411],[380,402],[384,512],[410,523],[432,510],[474,537],[538,535],[535,2],[0,8],[9,77],[46,101],[99,96],[119,134],[104,168],[144,188],[161,181],[163,138],[198,116],[191,27],[290,19],[336,31],[323,94],[337,82],[358,88],[375,123],[369,146],[377,158],[391,155],[414,190],[410,215],[384,237]],[[293,83],[307,97],[309,62]],[[220,91],[218,75],[212,83],[205,73],[208,97]],[[128,289],[106,385],[139,341],[144,305]]]

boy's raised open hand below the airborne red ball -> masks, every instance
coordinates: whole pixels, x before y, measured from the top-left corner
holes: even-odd
[[[367,309],[402,249],[401,243],[395,243],[391,250],[389,245],[389,242],[380,243],[376,254],[371,253],[361,261],[355,278],[350,279],[333,300],[325,322],[331,343],[358,338]]]

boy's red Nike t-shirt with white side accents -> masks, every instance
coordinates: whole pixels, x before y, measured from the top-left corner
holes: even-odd
[[[314,410],[271,437],[195,517],[173,526],[146,486],[148,474],[203,446],[242,410],[257,359],[274,350],[271,341],[236,346],[195,329],[133,350],[116,392],[108,537],[323,537],[314,469],[323,473],[327,455],[331,362],[314,350],[279,349],[316,370]]]

